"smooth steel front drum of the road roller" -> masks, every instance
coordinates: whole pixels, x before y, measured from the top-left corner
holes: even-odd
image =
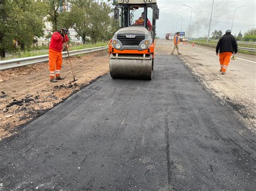
[[[110,59],[110,75],[117,79],[152,79],[151,60]]]

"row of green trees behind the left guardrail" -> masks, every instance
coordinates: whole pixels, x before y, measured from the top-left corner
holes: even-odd
[[[66,5],[69,11],[62,9]],[[44,36],[45,22],[51,23],[51,33],[62,27],[75,30],[83,43],[109,40],[118,28],[111,13],[110,3],[92,0],[0,0],[1,58],[17,51],[15,42],[22,51],[29,50]]]

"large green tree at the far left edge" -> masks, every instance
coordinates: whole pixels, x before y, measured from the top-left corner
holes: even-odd
[[[15,50],[14,40],[25,49],[31,47],[34,37],[43,35],[46,12],[41,1],[2,0],[1,3],[0,52],[4,58],[6,52]]]

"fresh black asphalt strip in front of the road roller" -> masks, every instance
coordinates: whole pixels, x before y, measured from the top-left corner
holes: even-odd
[[[253,190],[255,136],[177,56],[105,75],[1,148],[0,189]]]

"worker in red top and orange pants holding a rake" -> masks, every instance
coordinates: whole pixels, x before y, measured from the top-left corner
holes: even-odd
[[[51,36],[49,46],[50,82],[65,79],[64,77],[60,77],[60,69],[62,69],[62,45],[65,43],[65,40],[69,41],[68,34],[69,30],[62,28],[59,31],[53,32]]]

